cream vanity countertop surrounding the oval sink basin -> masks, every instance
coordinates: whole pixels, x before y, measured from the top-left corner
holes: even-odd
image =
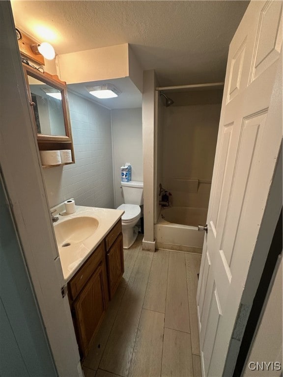
[[[75,217],[94,217],[99,222],[94,233],[84,241],[71,242],[71,244],[66,247],[57,245],[65,282],[68,282],[85,263],[85,260],[118,222],[123,213],[124,211],[108,208],[76,206],[76,212],[72,215],[67,215],[65,212],[56,215],[59,220],[54,223],[55,228],[63,221]],[[67,241],[68,240],[66,240],[66,242]]]

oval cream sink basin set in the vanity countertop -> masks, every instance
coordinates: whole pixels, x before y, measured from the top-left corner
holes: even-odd
[[[90,216],[72,217],[54,224],[56,241],[59,247],[82,242],[96,231],[99,221]]]

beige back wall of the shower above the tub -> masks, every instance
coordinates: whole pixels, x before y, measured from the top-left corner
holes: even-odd
[[[174,206],[207,208],[219,127],[222,91],[168,93],[162,184]]]

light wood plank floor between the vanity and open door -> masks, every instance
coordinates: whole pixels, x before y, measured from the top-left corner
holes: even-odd
[[[125,273],[83,368],[85,377],[201,377],[197,285],[201,256],[124,250]]]

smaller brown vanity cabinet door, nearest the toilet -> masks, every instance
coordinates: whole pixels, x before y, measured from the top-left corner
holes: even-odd
[[[110,299],[113,297],[117,286],[124,273],[123,236],[119,234],[107,253],[108,286]]]

